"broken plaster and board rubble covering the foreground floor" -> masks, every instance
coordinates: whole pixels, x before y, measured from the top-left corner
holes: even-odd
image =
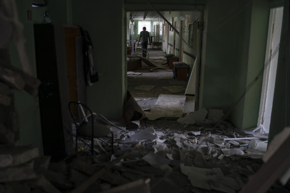
[[[94,155],[89,140],[80,139],[78,152],[59,163],[39,157],[33,147],[7,149],[6,161],[0,162],[4,171],[0,188],[10,192],[19,188],[21,192],[238,192],[262,164],[268,135],[262,127],[239,130],[197,113],[188,114],[194,124],[176,118],[115,123],[122,130],[110,126],[114,153],[111,134],[95,139],[102,148],[96,143]]]

